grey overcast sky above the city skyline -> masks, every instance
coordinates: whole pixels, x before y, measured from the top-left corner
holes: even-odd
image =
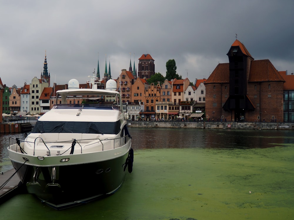
[[[293,0],[0,0],[0,77],[3,84],[28,84],[43,72],[45,50],[51,86],[80,83],[111,65],[117,79],[130,59],[149,53],[155,72],[177,72],[192,82],[208,78],[238,40],[255,60],[269,59],[294,72]],[[131,55],[130,55],[131,53]],[[134,56],[135,54],[135,56]]]

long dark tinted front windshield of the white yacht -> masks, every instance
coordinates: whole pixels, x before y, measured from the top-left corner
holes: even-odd
[[[37,121],[31,133],[90,133],[118,134],[120,121],[83,122],[83,121]]]

